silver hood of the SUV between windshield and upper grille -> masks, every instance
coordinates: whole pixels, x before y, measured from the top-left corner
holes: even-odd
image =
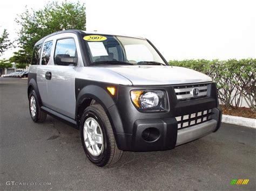
[[[176,66],[107,66],[126,77],[133,85],[166,85],[210,82],[211,77],[192,69]]]

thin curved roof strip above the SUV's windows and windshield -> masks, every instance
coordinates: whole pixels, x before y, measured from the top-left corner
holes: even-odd
[[[38,40],[37,43],[35,44],[35,46],[39,45],[39,44],[42,44],[46,38],[49,38],[51,36],[54,36],[56,34],[61,34],[61,33],[100,34],[100,35],[113,35],[113,36],[122,36],[122,37],[132,37],[132,36],[126,36],[125,34],[112,34],[112,33],[98,32],[98,31],[64,30],[64,31],[53,32],[53,33],[49,34],[48,36]],[[142,38],[142,37],[132,37],[132,38],[145,39],[145,38]]]

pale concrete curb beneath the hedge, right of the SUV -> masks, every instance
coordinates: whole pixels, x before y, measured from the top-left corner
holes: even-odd
[[[234,124],[234,125],[240,125],[240,126],[246,126],[247,128],[256,129],[256,119],[252,119],[252,118],[223,115],[221,122]]]

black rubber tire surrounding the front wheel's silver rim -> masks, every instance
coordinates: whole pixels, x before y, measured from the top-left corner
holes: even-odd
[[[87,118],[93,118],[99,124],[99,128],[102,130],[103,133],[103,150],[98,156],[93,156],[85,146],[84,140],[84,123]],[[80,136],[82,140],[82,144],[84,147],[85,154],[89,160],[100,167],[103,166],[111,166],[118,162],[122,157],[123,151],[119,150],[116,144],[116,139],[114,138],[113,130],[111,123],[109,121],[109,117],[107,117],[106,112],[104,111],[103,107],[99,104],[91,105],[87,107],[82,115],[80,121]]]

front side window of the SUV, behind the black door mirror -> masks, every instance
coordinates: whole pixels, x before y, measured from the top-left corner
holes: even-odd
[[[60,58],[76,58],[77,57],[77,49],[76,43],[73,38],[66,38],[57,40],[56,48],[55,48],[55,64],[57,59]]]

